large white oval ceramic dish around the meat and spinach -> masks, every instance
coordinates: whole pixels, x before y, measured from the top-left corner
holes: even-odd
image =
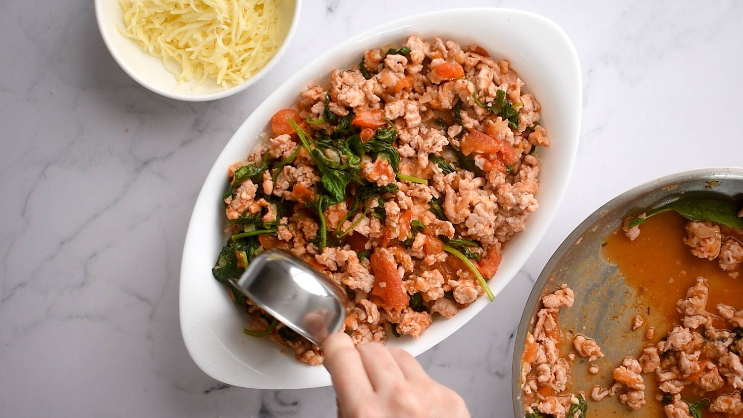
[[[293,389],[331,384],[322,366],[296,362],[292,353],[265,339],[245,336],[247,314],[230,301],[227,290],[212,278],[211,269],[224,245],[227,166],[250,153],[271,115],[291,105],[304,88],[334,68],[354,65],[363,50],[403,42],[409,34],[441,36],[463,44],[477,42],[496,58],[510,59],[513,68],[542,104],[542,119],[551,138],[539,148],[542,173],[539,209],[526,230],[505,246],[503,261],[490,288],[498,293],[521,269],[539,244],[562,200],[573,167],[580,130],[581,79],[577,53],[554,22],[533,13],[495,8],[444,10],[389,22],[346,40],[297,73],[268,97],[240,126],[217,158],[196,200],[186,233],[181,264],[181,331],[186,348],[201,370],[228,385],[246,388]],[[452,319],[437,318],[418,339],[401,337],[389,344],[417,356],[447,338],[488,303],[479,298]],[[494,319],[497,326],[497,319]],[[467,336],[460,335],[460,338]]]

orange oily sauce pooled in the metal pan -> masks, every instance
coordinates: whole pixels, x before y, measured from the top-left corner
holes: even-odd
[[[626,284],[638,290],[640,295],[638,306],[648,307],[648,312],[652,314],[650,318],[665,319],[663,323],[651,320],[651,323],[647,324],[646,317],[643,330],[648,326],[655,327],[655,338],[652,342],[663,339],[669,330],[678,324],[680,317],[676,311],[676,302],[686,297],[687,289],[695,284],[698,276],[707,278],[710,287],[707,310],[716,312],[716,305],[720,303],[729,304],[736,309],[743,308],[743,269],[739,267],[733,272],[724,272],[718,267],[717,261],[692,255],[690,248],[684,244],[686,223],[687,220],[681,215],[664,212],[641,225],[640,236],[635,241],[629,241],[622,229],[617,229],[606,237],[606,244],[603,245],[603,256],[611,264],[619,267]],[[730,229],[723,229],[723,233],[740,239],[740,235]],[[639,354],[627,353],[632,356]],[[655,399],[658,393],[655,376],[646,375],[645,382],[648,403],[637,411],[640,414],[635,415],[665,417],[661,402]],[[724,388],[721,393],[732,391],[730,388]],[[714,399],[717,394],[698,392],[691,386],[687,386],[681,393],[683,399],[690,401]],[[589,415],[592,414],[589,412]],[[704,417],[724,415],[704,411]],[[736,417],[743,417],[743,414]]]

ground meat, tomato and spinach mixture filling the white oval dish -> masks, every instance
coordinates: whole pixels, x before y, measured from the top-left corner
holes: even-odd
[[[535,151],[549,146],[523,85],[478,45],[418,36],[332,71],[230,166],[231,236],[215,278],[239,278],[264,249],[288,249],[346,290],[345,332],[356,343],[417,338],[433,316],[450,318],[484,293],[492,300],[487,279],[538,206]],[[319,347],[229,291],[253,317],[246,333],[322,362]]]

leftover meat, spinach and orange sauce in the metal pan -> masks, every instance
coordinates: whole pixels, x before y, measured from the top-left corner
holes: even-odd
[[[743,208],[727,200],[681,197],[626,218],[603,248],[643,299],[628,332],[641,333],[644,342],[618,359],[606,385],[577,391],[583,382],[571,381],[576,355],[595,375],[594,361],[603,353],[582,335],[561,350],[559,309],[574,303],[574,292],[562,284],[542,298],[525,342],[527,417],[585,417],[586,399],[614,396],[626,405],[624,414],[643,411],[641,417],[742,417],[742,243]],[[651,307],[658,311],[655,322]],[[601,403],[591,409],[597,417],[610,415]]]

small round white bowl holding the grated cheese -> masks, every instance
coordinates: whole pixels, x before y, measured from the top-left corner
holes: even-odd
[[[299,22],[299,8],[302,5],[302,0],[282,0],[279,1],[279,4],[282,16],[279,21],[282,24],[280,30],[284,36],[281,47],[261,71],[241,84],[230,88],[223,88],[212,79],[207,79],[197,88],[193,88],[194,83],[192,82],[184,82],[181,86],[178,86],[175,76],[165,68],[160,57],[150,55],[142,50],[137,42],[126,38],[119,32],[118,28],[124,25],[124,18],[118,0],[95,0],[95,16],[108,52],[134,81],[171,99],[186,102],[207,102],[232,96],[245,90],[267,74],[284,55],[289,41],[294,35],[296,23]]]

